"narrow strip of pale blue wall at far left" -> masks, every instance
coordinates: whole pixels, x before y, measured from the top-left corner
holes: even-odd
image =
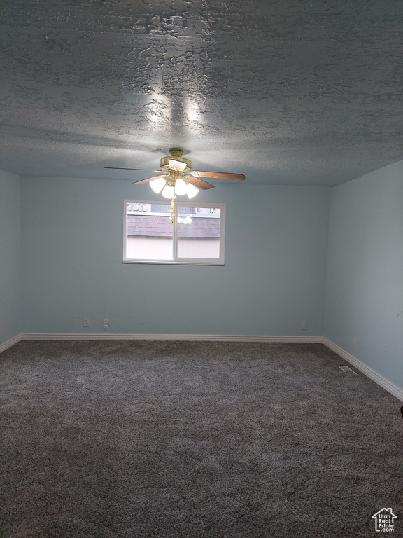
[[[0,344],[21,332],[20,178],[0,170]]]

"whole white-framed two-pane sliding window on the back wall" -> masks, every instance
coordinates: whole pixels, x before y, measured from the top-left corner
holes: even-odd
[[[125,263],[224,265],[225,204],[125,200]]]

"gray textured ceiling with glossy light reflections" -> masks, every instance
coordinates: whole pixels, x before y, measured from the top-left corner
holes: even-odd
[[[250,184],[403,158],[401,0],[5,0],[0,168],[142,179],[180,146]],[[215,181],[218,183],[219,181]]]

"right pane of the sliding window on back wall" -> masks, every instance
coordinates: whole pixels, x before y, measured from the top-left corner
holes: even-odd
[[[178,207],[178,258],[220,258],[220,216],[218,207]]]

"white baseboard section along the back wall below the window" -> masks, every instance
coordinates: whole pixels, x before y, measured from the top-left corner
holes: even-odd
[[[255,336],[223,334],[111,334],[111,333],[31,333],[20,340],[183,340],[193,342],[278,342],[323,343],[322,336]]]

